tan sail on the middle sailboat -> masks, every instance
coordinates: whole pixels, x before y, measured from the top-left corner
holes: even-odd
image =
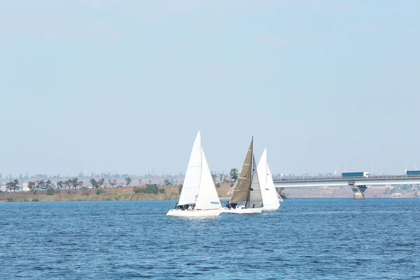
[[[230,203],[244,202],[248,199],[249,188],[251,186],[251,165],[253,155],[253,139],[249,144],[248,152],[242,165],[241,173],[239,174],[238,181],[235,184]]]

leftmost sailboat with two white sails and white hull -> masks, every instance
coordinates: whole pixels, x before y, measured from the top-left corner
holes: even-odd
[[[169,210],[167,216],[207,217],[218,216],[222,211],[206,155],[204,155],[200,131],[194,141],[177,205],[181,209]],[[190,206],[190,210],[186,207],[187,205]]]

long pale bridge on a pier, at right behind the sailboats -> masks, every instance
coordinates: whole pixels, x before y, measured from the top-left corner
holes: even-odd
[[[274,181],[276,188],[319,188],[349,186],[354,192],[355,200],[365,198],[367,186],[395,186],[420,184],[420,176],[371,176],[337,177],[317,179],[282,179]]]

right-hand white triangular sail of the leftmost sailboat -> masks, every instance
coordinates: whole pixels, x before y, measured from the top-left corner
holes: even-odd
[[[218,198],[216,187],[214,186],[213,178],[211,178],[211,173],[209,165],[207,165],[206,155],[204,155],[204,150],[201,148],[202,152],[202,171],[201,171],[201,181],[200,181],[200,190],[198,192],[197,202],[195,202],[196,210],[209,210],[209,209],[221,209],[221,201]]]

